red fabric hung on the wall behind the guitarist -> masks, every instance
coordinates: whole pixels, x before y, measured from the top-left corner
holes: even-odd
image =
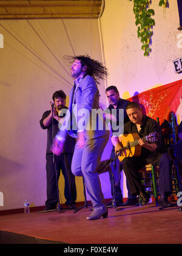
[[[130,97],[130,102],[140,103],[144,114],[153,119],[170,121],[170,112],[176,112],[182,97],[182,79]]]

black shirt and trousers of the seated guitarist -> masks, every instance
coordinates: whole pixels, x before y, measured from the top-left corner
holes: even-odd
[[[141,185],[141,176],[138,173],[141,167],[146,164],[159,165],[160,176],[159,176],[159,189],[160,193],[166,193],[169,195],[171,192],[171,181],[170,181],[170,171],[171,162],[169,154],[165,153],[166,149],[164,147],[164,141],[162,137],[162,130],[157,121],[151,119],[150,117],[143,116],[143,122],[141,124],[141,130],[138,132],[136,125],[131,121],[124,125],[124,133],[138,133],[140,137],[146,136],[154,132],[159,133],[156,151],[147,150],[141,147],[141,155],[138,157],[125,157],[123,159],[123,168],[126,175],[126,179],[129,182],[130,191],[132,195],[139,195],[143,191],[143,186]]]

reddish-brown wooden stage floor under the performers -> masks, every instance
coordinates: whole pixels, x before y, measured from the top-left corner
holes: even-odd
[[[0,243],[12,243],[3,235],[21,234],[44,240],[44,243],[182,244],[182,212],[178,207],[159,210],[153,203],[123,206],[118,211],[109,209],[108,218],[87,221],[90,213],[89,207],[76,213],[63,210],[61,213],[2,215]],[[23,243],[20,235],[19,242],[15,243]]]

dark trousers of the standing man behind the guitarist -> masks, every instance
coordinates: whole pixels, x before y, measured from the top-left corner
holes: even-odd
[[[110,159],[115,158],[115,148],[113,147],[111,154],[110,154]],[[123,195],[121,192],[121,171],[123,170],[123,164],[122,162],[119,161],[118,157],[112,164],[110,164],[110,168],[113,173],[114,177],[114,185],[115,185],[115,199],[116,201],[123,201]],[[110,184],[111,184],[111,194],[112,198],[114,197],[113,195],[113,184],[112,184],[112,174],[109,172],[109,179],[110,179]],[[126,186],[127,186],[127,193],[128,193],[128,198],[135,198],[135,196],[132,196],[130,193],[130,187],[129,184],[126,180]]]

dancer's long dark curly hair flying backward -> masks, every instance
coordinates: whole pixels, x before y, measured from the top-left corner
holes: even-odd
[[[99,84],[99,80],[106,79],[108,74],[107,68],[98,60],[93,60],[89,55],[78,56],[66,56],[66,60],[75,61],[80,60],[81,66],[87,66],[86,75],[93,77],[96,83]]]

